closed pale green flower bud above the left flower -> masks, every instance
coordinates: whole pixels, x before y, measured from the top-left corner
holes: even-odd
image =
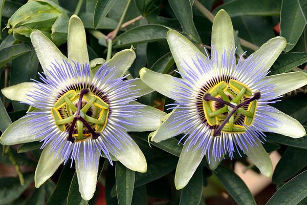
[[[6,28],[16,40],[28,41],[32,30],[40,30],[57,46],[66,42],[68,15],[50,0],[30,0],[8,20]]]

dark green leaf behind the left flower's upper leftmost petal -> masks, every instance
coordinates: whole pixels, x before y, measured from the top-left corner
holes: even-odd
[[[33,47],[31,46],[30,48],[30,52],[21,55],[12,61],[10,86],[27,82],[31,78],[35,79],[39,61]],[[21,104],[20,102],[14,100],[12,101],[12,104],[14,111],[29,108],[27,104]]]

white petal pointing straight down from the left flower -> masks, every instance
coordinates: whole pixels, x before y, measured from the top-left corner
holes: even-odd
[[[83,149],[80,149],[80,159],[75,159],[76,162],[76,173],[79,184],[79,192],[84,200],[90,200],[93,198],[98,176],[98,165],[99,165],[99,153],[94,152],[94,161],[84,162],[84,154],[89,155],[89,153],[84,153]],[[87,156],[88,157],[88,156]],[[85,157],[86,158],[86,157]],[[97,164],[96,164],[97,161]]]

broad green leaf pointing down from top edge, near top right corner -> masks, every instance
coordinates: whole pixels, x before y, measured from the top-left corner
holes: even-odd
[[[294,48],[305,28],[305,24],[298,2],[283,0],[280,11],[280,36],[287,39],[285,52]]]

